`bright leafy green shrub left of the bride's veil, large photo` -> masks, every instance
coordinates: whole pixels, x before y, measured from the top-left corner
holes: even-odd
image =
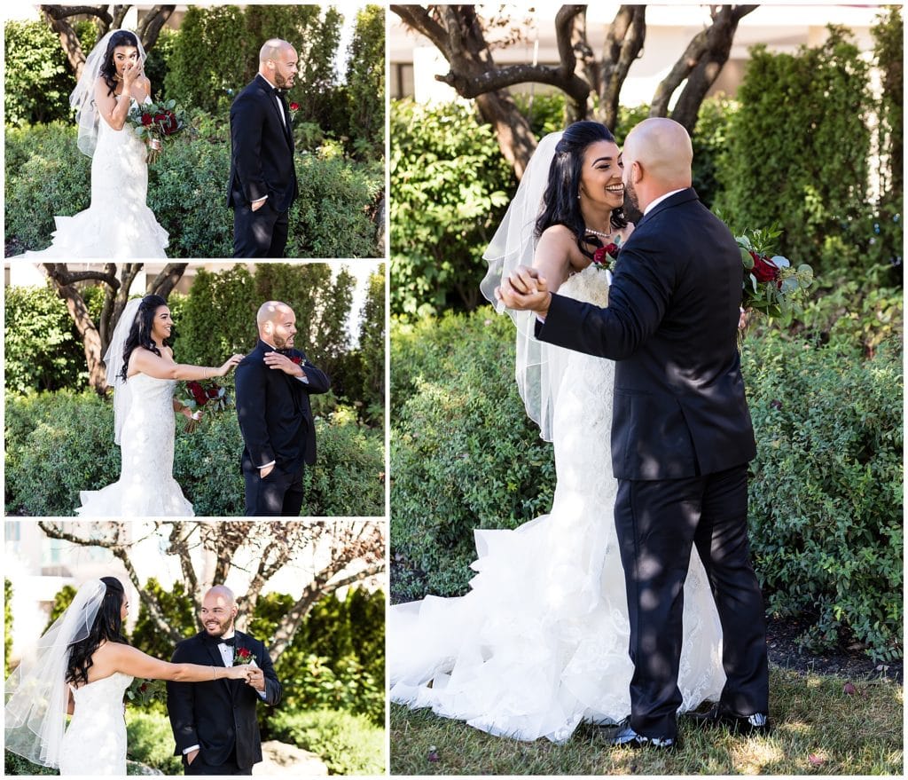
[[[489,125],[462,104],[391,104],[391,311],[474,308],[482,253],[516,189]]]

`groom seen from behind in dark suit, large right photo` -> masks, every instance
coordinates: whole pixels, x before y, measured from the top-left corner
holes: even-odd
[[[677,745],[683,586],[691,545],[723,632],[726,682],[700,725],[768,729],[763,597],[749,560],[747,463],[755,456],[736,332],[741,255],[691,187],[681,125],[628,135],[624,185],[643,212],[622,248],[608,307],[548,291],[535,269],[502,281],[505,305],[538,315],[542,341],[612,358],[615,524],[630,618],[631,715],[614,745]]]

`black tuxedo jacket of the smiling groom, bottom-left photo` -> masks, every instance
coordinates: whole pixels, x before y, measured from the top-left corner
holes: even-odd
[[[265,675],[264,702],[281,701],[281,683],[274,674],[271,656],[264,643],[236,632],[236,649],[248,649]],[[201,632],[184,639],[173,651],[174,664],[202,664],[223,667],[217,643]],[[261,696],[240,680],[217,679],[204,683],[167,683],[167,714],[170,715],[176,749],[183,755],[192,745],[208,765],[221,765],[236,746],[236,763],[245,768],[262,761],[262,738],[255,717]]]

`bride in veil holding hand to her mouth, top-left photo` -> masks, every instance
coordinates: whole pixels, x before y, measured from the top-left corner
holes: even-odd
[[[133,105],[150,103],[145,53],[136,35],[114,30],[85,60],[70,105],[79,150],[92,158],[92,202],[74,216],[55,216],[54,241],[27,258],[165,257],[167,232],[146,205],[147,149],[128,125]]]

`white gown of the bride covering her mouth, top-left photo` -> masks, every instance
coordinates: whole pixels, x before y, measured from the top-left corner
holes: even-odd
[[[92,157],[92,204],[74,216],[54,216],[54,243],[41,252],[20,256],[105,260],[166,257],[167,231],[146,205],[146,155],[147,149],[132,125],[114,130],[100,119]]]

